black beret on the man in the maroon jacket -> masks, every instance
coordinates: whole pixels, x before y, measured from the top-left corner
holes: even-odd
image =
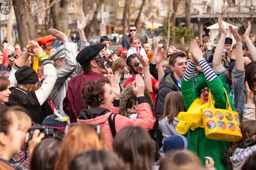
[[[102,51],[103,48],[105,48],[104,44],[90,45],[89,47],[82,49],[79,54],[77,54],[76,61],[79,62],[80,65],[83,65]]]

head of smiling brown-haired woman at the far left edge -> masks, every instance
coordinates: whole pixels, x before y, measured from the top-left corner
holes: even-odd
[[[8,102],[11,91],[9,90],[10,81],[6,77],[0,77],[0,103]]]

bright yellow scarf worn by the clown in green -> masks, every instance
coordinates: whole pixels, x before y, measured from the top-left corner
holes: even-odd
[[[180,120],[178,125],[176,126],[176,130],[180,134],[186,134],[191,130],[195,130],[198,127],[204,127],[203,120],[202,120],[202,108],[209,108],[209,105],[214,106],[215,102],[208,102],[204,104],[203,100],[198,98],[195,99],[192,105],[190,105],[187,112],[180,112],[178,113],[177,118]]]

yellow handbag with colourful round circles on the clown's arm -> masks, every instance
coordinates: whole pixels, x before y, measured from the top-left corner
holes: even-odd
[[[227,100],[227,110],[214,108],[214,105],[211,105],[211,91],[208,97],[209,108],[201,109],[205,136],[208,139],[238,142],[243,138],[239,115],[237,112],[232,111],[225,88],[224,91]]]

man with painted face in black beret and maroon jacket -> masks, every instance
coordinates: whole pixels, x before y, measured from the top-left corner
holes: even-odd
[[[67,94],[63,100],[63,110],[70,116],[70,122],[76,122],[79,113],[85,107],[83,105],[82,89],[84,83],[90,80],[107,79],[103,74],[108,72],[104,65],[105,54],[101,50],[105,45],[91,45],[82,49],[76,57],[83,72],[70,79]]]

